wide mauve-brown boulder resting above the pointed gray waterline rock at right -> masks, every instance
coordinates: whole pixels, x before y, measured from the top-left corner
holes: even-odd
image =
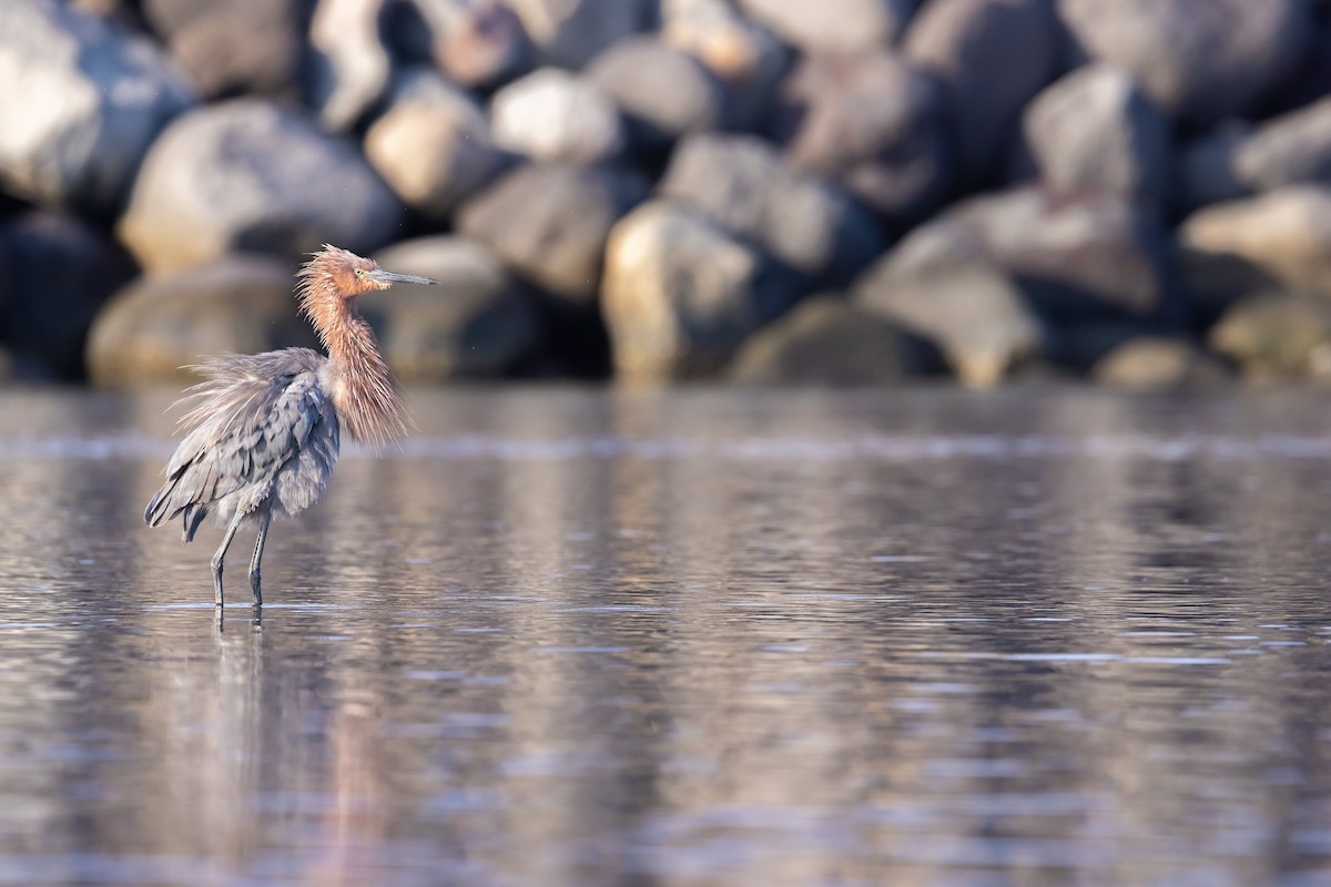
[[[976,262],[1018,282],[1059,323],[1175,319],[1171,241],[1158,214],[1121,195],[1020,188],[973,197],[914,229],[888,257],[893,273]]]

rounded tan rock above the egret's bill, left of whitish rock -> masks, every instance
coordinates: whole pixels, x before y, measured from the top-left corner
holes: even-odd
[[[365,134],[365,153],[398,197],[431,218],[447,217],[508,162],[484,110],[426,68],[398,77],[393,104]]]

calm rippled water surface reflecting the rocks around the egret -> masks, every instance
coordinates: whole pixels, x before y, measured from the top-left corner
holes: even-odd
[[[1331,395],[413,392],[276,524],[0,395],[0,884],[1331,884]]]

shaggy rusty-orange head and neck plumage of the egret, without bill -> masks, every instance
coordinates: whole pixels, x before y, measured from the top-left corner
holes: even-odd
[[[331,364],[329,396],[342,427],[375,449],[407,432],[407,414],[374,331],[355,310],[353,253],[325,247],[301,269],[301,313],[310,319]]]

